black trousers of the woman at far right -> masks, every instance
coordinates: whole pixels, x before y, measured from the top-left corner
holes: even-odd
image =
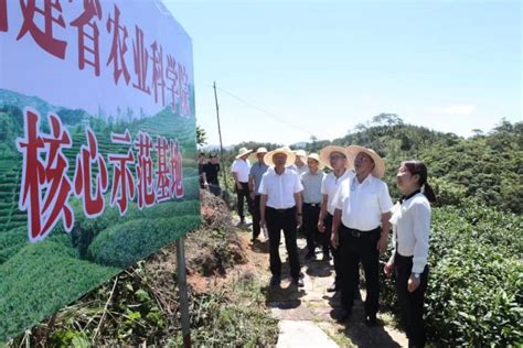
[[[420,275],[419,286],[412,293],[407,290],[407,282],[413,270],[413,257],[394,257],[394,275],[396,278],[396,292],[402,309],[409,344],[415,347],[425,346],[425,326],[423,322],[423,304],[428,282],[428,267]]]

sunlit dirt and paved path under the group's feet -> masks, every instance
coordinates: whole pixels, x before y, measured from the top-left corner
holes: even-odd
[[[367,327],[363,323],[363,303],[356,300],[350,319],[338,324],[332,315],[339,306],[339,294],[327,292],[333,282],[332,261],[322,261],[322,253],[317,253],[317,260],[305,262],[307,251],[305,238],[298,238],[298,248],[301,261],[301,271],[305,274],[305,287],[298,289],[290,285],[287,252],[284,238],[280,244],[280,255],[284,262],[281,269],[281,286],[268,286],[270,272],[268,268],[268,242],[264,237],[254,244],[250,241],[248,228],[238,230],[238,235],[248,253],[249,264],[254,268],[266,294],[266,305],[273,315],[280,319],[280,336],[278,347],[306,346],[329,347],[407,347],[405,335],[392,326],[387,315],[378,315],[381,324]],[[362,297],[365,297],[362,292]],[[314,327],[321,329],[316,330]],[[324,334],[328,337],[320,337]],[[327,340],[325,340],[327,338]],[[322,344],[320,344],[322,342]],[[334,344],[335,342],[335,344]]]

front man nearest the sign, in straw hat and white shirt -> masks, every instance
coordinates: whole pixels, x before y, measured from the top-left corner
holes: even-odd
[[[292,284],[303,286],[300,276],[300,260],[296,243],[296,229],[301,225],[301,185],[298,173],[286,168],[295,161],[295,154],[287,149],[276,149],[265,155],[265,163],[274,168],[267,170],[259,185],[260,225],[269,232],[270,285],[279,285],[281,280],[281,260],[279,241],[281,230],[290,264]]]

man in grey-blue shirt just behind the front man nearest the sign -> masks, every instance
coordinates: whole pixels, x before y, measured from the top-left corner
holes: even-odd
[[[316,258],[316,244],[319,243],[318,232],[318,218],[321,209],[321,182],[323,181],[324,173],[323,163],[320,161],[320,156],[317,153],[311,153],[307,157],[307,164],[309,170],[301,174],[301,184],[303,185],[303,231],[307,238],[306,260],[312,260]],[[329,250],[327,250],[327,258],[329,257]],[[323,260],[325,253],[323,252]]]

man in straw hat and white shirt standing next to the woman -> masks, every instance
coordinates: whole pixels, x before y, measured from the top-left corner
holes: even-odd
[[[386,251],[393,203],[385,175],[385,163],[373,150],[351,145],[348,155],[354,159],[356,175],[344,181],[334,197],[332,244],[340,248],[343,264],[340,319],[349,317],[353,305],[355,269],[363,264],[366,283],[365,323],[376,325],[380,282],[378,258]],[[346,269],[346,271],[345,271]]]

